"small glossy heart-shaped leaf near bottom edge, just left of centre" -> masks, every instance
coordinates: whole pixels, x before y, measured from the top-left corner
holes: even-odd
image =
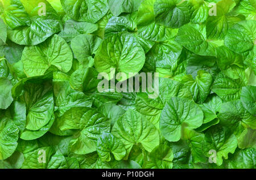
[[[103,132],[97,141],[97,152],[102,161],[110,161],[110,153],[113,153],[115,160],[122,160],[126,155],[123,143],[108,132]]]

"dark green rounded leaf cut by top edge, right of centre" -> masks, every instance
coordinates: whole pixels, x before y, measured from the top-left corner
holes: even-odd
[[[179,28],[189,23],[192,5],[189,1],[156,0],[154,13],[156,23],[170,28]]]

